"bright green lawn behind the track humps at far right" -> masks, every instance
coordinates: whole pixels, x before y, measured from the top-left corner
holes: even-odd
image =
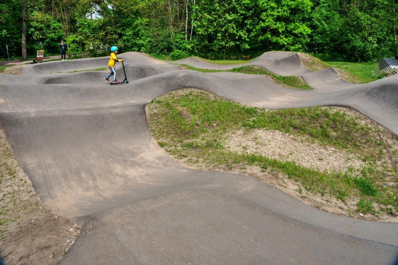
[[[334,68],[351,73],[362,80],[361,83],[373,82],[382,76],[377,74],[377,64],[374,62],[326,62]]]

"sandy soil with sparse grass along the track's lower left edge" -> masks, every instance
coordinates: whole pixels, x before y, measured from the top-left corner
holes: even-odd
[[[0,130],[0,246],[8,264],[56,264],[80,233],[35,193]]]

